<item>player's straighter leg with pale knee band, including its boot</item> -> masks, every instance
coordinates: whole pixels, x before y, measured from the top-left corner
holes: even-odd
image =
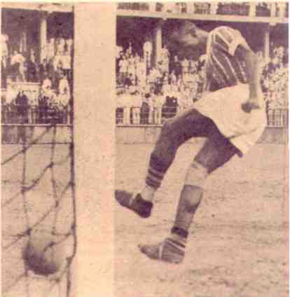
[[[238,152],[237,148],[214,127],[211,137],[207,139],[188,169],[170,236],[160,244],[141,246],[144,254],[172,263],[180,263],[183,260],[188,230],[202,200],[205,179]]]

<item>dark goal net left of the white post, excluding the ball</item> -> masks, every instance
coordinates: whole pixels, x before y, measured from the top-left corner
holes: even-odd
[[[3,296],[71,297],[76,200],[73,126],[67,127],[69,141],[59,141],[64,127],[52,124],[34,139],[2,145]],[[39,275],[23,260],[36,237],[43,238],[50,257],[64,251],[64,264],[53,275]]]

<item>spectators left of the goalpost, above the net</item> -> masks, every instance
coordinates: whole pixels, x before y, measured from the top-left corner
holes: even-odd
[[[1,34],[2,123],[67,123],[72,46],[72,39],[60,36],[36,53],[21,40],[15,49]],[[32,85],[37,92],[29,91]]]

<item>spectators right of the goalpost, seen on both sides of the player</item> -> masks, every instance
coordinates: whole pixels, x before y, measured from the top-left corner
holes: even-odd
[[[261,60],[261,86],[270,123],[272,114],[277,115],[279,109],[284,115],[288,108],[288,53],[280,46],[272,50],[268,61],[261,52],[257,55]],[[132,44],[126,50],[118,47],[116,123],[161,124],[193,106],[204,91],[205,62],[205,55],[197,61],[179,60],[177,56],[171,57],[165,47],[154,67],[150,51],[143,50],[143,55],[138,55]]]

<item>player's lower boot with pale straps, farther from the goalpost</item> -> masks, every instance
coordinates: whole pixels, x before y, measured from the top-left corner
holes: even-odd
[[[146,254],[151,259],[168,263],[179,264],[184,260],[185,245],[166,238],[159,244],[139,245],[141,253]]]

